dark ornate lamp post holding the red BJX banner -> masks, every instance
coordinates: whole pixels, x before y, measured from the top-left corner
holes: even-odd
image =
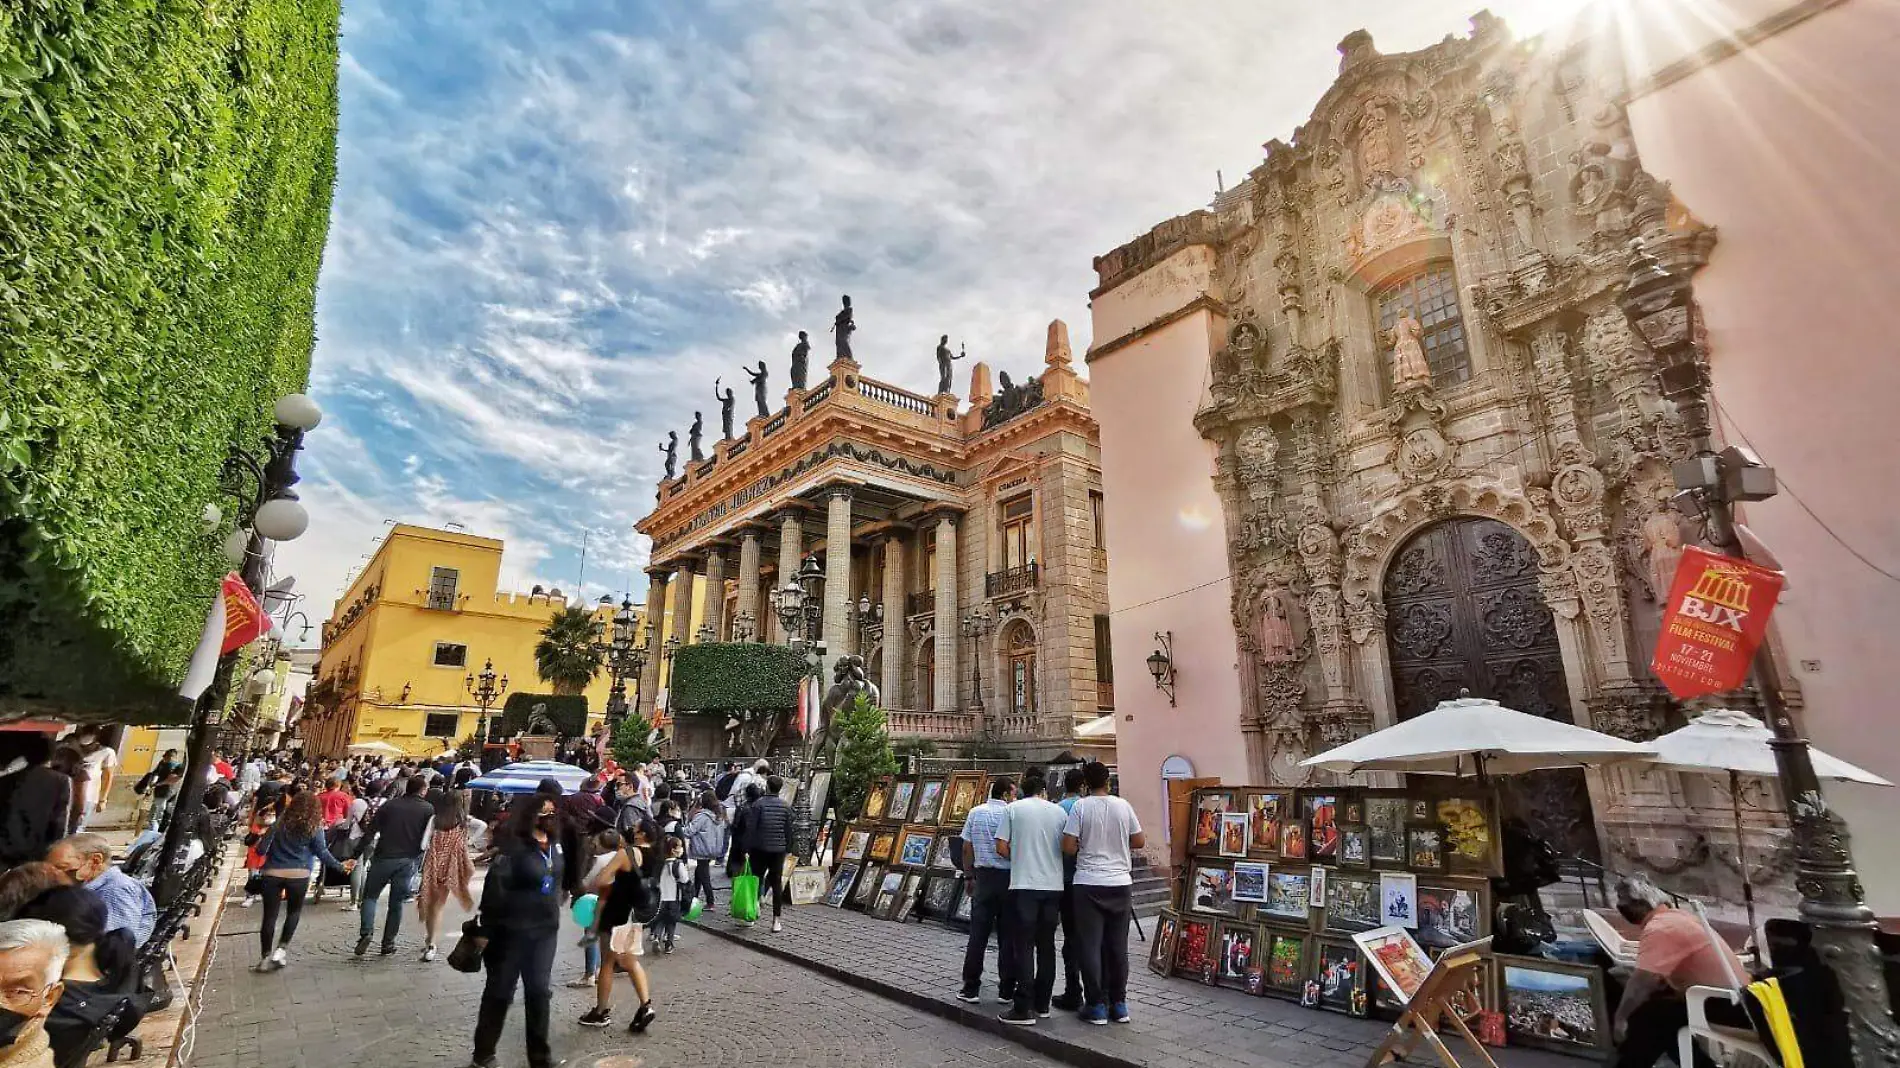
[[[1735,528],[1733,505],[1738,500],[1775,496],[1775,471],[1746,450],[1714,448],[1708,363],[1697,344],[1699,308],[1689,272],[1668,272],[1644,241],[1630,241],[1630,277],[1621,308],[1653,353],[1657,386],[1676,405],[1689,435],[1691,456],[1674,466],[1678,511],[1704,521],[1718,551],[1748,559]],[[1782,804],[1794,832],[1799,914],[1814,929],[1816,948],[1839,977],[1854,1064],[1900,1064],[1900,1028],[1889,1007],[1881,956],[1873,943],[1873,912],[1854,872],[1847,823],[1828,808],[1820,792],[1807,737],[1782,701],[1780,669],[1767,642],[1756,648],[1752,667],[1775,734],[1769,745],[1775,749]]]

